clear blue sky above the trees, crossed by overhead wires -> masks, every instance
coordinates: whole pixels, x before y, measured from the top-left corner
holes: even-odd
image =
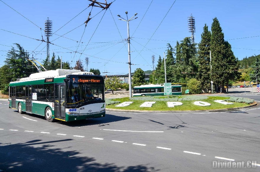
[[[49,17],[53,22],[53,32],[66,24],[90,4],[90,1],[87,0],[2,1],[41,28],[44,28],[44,22],[47,17]],[[98,1],[105,2],[105,0]],[[210,29],[212,19],[217,17],[224,32],[225,40],[228,40],[232,45],[232,50],[238,59],[254,54],[260,54],[260,1],[258,0],[176,0],[171,9],[170,6],[173,4],[173,0],[153,0],[152,3],[151,1],[152,0],[116,0],[111,4],[110,10],[108,9],[106,12],[105,10],[100,12],[101,8],[94,7],[90,17],[95,16],[98,12],[100,13],[93,17],[85,28],[85,24],[83,23],[87,20],[88,14],[91,10],[91,7],[87,8],[84,12],[79,14],[71,22],[55,33],[63,35],[83,24],[81,27],[78,27],[64,35],[64,37],[69,39],[63,37],[58,38],[58,35],[50,37],[50,41],[53,44],[58,45],[50,44],[50,54],[54,52],[56,57],[58,55],[62,56],[62,59],[72,63],[72,66],[75,66],[75,61],[79,58],[85,65],[85,58],[89,57],[89,69],[99,68],[101,72],[108,72],[107,74],[128,73],[127,42],[122,41],[122,38],[127,38],[127,23],[118,20],[117,17],[117,14],[120,14],[121,17],[126,18],[125,11],[128,11],[129,18],[135,13],[138,13],[136,16],[138,18],[129,22],[131,36],[131,63],[135,64],[132,65],[132,72],[136,68],[142,68],[144,71],[152,70],[152,55],[155,55],[156,65],[159,55],[163,57],[163,53],[167,49],[167,43],[170,43],[174,47],[176,45],[176,40],[180,41],[183,40],[184,37],[189,37],[191,33],[188,32],[187,17],[191,14],[195,17],[196,43],[199,43],[201,40],[201,33],[204,24],[206,23]],[[111,0],[107,0],[107,2],[110,3]],[[150,8],[145,14],[149,5]],[[170,11],[165,17],[165,14],[169,9]],[[43,42],[40,44],[40,41],[27,38],[31,37],[41,40],[41,34],[43,34],[43,38],[45,39],[44,29],[40,31],[37,26],[29,22],[17,12],[0,1],[0,15],[2,16],[0,25],[0,29],[2,29],[0,30],[0,66],[4,64],[3,61],[5,55],[11,48],[9,46],[13,46],[13,43],[19,43],[25,50],[31,53],[30,57],[32,57],[33,54],[33,56],[40,62],[46,58],[46,43]],[[116,24],[111,13],[113,14]],[[104,17],[101,20],[103,14]],[[163,17],[165,17],[165,19],[160,24]],[[140,23],[142,18],[143,20]],[[140,25],[137,28],[139,23]],[[159,24],[160,27],[157,29]],[[27,37],[15,35],[3,30],[25,35]],[[81,37],[82,40],[80,41]],[[55,40],[56,38],[58,39]],[[149,41],[150,38],[151,40]],[[76,41],[78,41],[78,43]],[[89,44],[87,45],[88,42]],[[126,44],[126,47],[124,44]],[[144,45],[146,45],[145,48],[143,47]],[[38,48],[36,49],[36,47]],[[65,47],[66,49],[61,47]],[[84,54],[80,56],[79,53],[75,53],[76,50],[77,52],[83,52],[84,50]],[[34,52],[32,53],[32,51]]]

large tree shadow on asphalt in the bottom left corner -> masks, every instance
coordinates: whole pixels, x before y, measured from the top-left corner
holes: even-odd
[[[37,171],[37,172],[146,172],[159,171],[148,165],[117,166],[114,163],[97,161],[93,157],[82,156],[79,151],[69,148],[54,148],[54,142],[70,141],[72,139],[41,142],[32,140],[25,143],[0,143],[0,169],[6,172]],[[111,157],[107,157],[111,161]]]

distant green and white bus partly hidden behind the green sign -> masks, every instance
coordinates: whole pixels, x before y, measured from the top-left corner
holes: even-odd
[[[141,85],[134,87],[133,96],[163,96],[164,86],[161,85]],[[181,85],[172,85],[172,95],[181,95]]]

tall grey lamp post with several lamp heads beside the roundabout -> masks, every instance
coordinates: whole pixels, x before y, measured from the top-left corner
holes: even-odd
[[[137,13],[134,14],[134,16],[136,16],[136,15],[137,15]],[[126,11],[126,18],[127,18],[127,20],[124,19],[123,17],[121,17],[119,14],[118,14],[117,16],[121,18],[121,19],[119,19],[119,20],[123,20],[123,21],[126,21],[126,22],[127,22],[127,31],[128,31],[128,38],[127,38],[127,42],[128,42],[128,65],[129,65],[129,79],[128,79],[128,81],[129,81],[129,97],[132,97],[129,22],[130,22],[131,20],[136,19],[137,17],[135,17],[134,19],[132,19],[132,18],[134,17],[134,16],[133,16],[131,19],[128,19],[128,17],[127,17],[127,11]]]

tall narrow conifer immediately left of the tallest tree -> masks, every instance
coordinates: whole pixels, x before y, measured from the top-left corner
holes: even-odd
[[[203,32],[201,34],[201,42],[198,47],[198,78],[202,84],[202,89],[211,88],[210,78],[210,40],[211,32],[208,30],[208,26],[205,24]]]

